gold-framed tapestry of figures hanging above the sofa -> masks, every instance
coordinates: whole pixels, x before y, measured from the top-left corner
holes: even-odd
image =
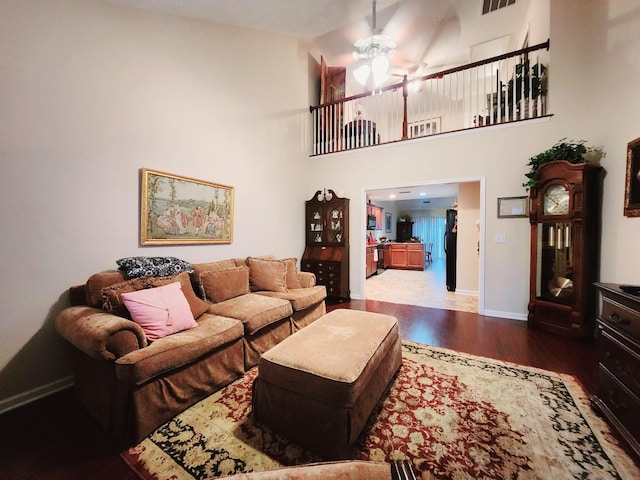
[[[231,243],[233,187],[143,168],[140,243]]]

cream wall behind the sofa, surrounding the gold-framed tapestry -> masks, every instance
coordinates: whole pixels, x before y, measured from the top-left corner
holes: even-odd
[[[300,257],[308,69],[286,36],[2,1],[0,411],[69,375],[53,319],[116,259]],[[141,167],[234,186],[233,243],[140,247]]]

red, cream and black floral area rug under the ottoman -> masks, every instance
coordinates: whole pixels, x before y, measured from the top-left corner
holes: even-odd
[[[253,423],[256,375],[176,416],[123,459],[156,480],[323,460]],[[571,377],[410,342],[353,458],[409,459],[422,479],[640,478]]]

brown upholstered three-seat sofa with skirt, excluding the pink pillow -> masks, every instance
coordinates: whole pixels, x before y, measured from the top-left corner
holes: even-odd
[[[76,347],[79,400],[117,440],[140,441],[326,312],[325,287],[315,285],[313,274],[298,272],[296,263],[248,257],[135,278],[110,270],[71,287],[71,306],[57,316],[56,328]],[[176,282],[195,322],[149,341],[124,299]]]

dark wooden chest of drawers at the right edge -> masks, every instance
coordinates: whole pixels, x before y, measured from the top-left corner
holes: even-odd
[[[598,389],[591,400],[640,459],[640,287],[626,287],[596,283]]]

